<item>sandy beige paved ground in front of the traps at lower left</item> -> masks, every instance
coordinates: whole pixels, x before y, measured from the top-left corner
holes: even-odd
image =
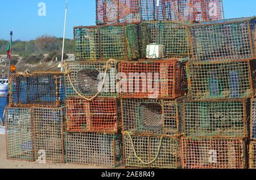
[[[36,162],[7,160],[5,135],[0,135],[0,169],[105,169],[105,167],[73,164],[38,164]]]

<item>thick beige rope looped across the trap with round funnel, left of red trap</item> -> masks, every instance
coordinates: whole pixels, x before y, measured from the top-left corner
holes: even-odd
[[[98,97],[98,95],[100,95],[102,89],[104,88],[104,85],[105,85],[105,80],[106,80],[106,76],[107,76],[107,72],[108,72],[108,69],[109,67],[111,67],[111,63],[117,63],[117,61],[115,59],[109,59],[108,62],[106,62],[106,67],[105,67],[105,72],[104,72],[104,78],[103,78],[103,83],[101,85],[101,88],[98,90],[98,92],[91,98],[86,98],[85,96],[83,96],[79,91],[77,91],[77,89],[75,88],[75,85],[73,84],[73,81],[70,77],[70,71],[68,70],[68,63],[67,62],[64,62],[64,67],[65,67],[65,75],[68,76],[68,80],[72,86],[72,88],[74,89],[74,91],[77,93],[77,95],[79,95],[81,98],[83,98],[84,100],[86,101],[92,101],[94,100],[96,97]]]

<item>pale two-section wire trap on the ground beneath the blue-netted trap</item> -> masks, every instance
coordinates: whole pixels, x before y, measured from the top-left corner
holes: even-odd
[[[64,162],[63,108],[7,108],[7,158]]]

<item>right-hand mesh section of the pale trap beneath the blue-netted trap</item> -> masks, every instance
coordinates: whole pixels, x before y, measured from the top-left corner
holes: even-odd
[[[65,162],[63,123],[63,108],[34,108],[35,155],[38,161]]]

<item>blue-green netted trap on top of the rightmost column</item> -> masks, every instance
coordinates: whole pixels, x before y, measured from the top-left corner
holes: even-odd
[[[255,59],[255,24],[241,18],[190,25],[193,61]]]

